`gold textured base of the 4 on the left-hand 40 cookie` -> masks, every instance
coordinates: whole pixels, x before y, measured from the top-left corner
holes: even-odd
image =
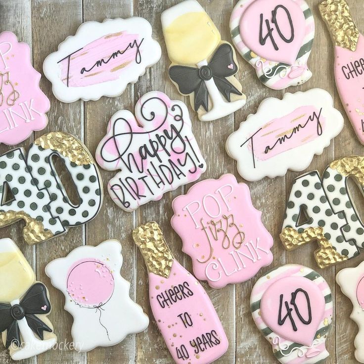
[[[29,244],[37,244],[53,237],[50,230],[45,230],[41,221],[32,218],[24,211],[1,211],[0,212],[0,228],[16,223],[19,220],[25,221],[23,227],[24,240]]]

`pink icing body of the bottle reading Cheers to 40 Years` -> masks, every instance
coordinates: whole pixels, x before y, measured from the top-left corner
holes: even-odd
[[[209,296],[180,263],[173,260],[168,278],[149,273],[149,287],[153,316],[177,364],[212,363],[227,351],[227,336]]]

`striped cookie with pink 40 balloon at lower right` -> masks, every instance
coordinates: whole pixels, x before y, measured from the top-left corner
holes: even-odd
[[[331,290],[311,268],[287,264],[266,273],[253,287],[250,309],[280,363],[322,363],[329,356]]]

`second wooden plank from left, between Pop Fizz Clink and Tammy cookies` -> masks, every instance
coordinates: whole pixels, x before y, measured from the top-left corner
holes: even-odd
[[[66,37],[73,35],[82,23],[82,0],[32,2],[32,29],[34,64],[42,70],[46,56],[58,48]],[[51,91],[51,84],[45,77],[41,87],[50,99],[49,123],[44,131],[37,132],[40,137],[50,131],[66,131],[84,140],[83,103],[63,103],[58,101]],[[49,289],[52,312],[49,315],[58,336],[58,343],[72,342],[72,317],[64,309],[64,295],[55,289],[44,269],[55,258],[64,257],[71,250],[85,242],[85,227],[71,227],[67,233],[50,241],[39,244],[37,249],[37,273]],[[43,363],[86,363],[86,355],[75,350],[49,350],[38,357],[38,364]]]

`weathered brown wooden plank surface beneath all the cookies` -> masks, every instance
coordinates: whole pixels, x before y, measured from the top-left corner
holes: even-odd
[[[41,88],[50,99],[51,108],[48,112],[49,123],[46,130],[34,133],[34,136],[21,145],[28,149],[34,137],[40,137],[50,131],[66,131],[81,140],[94,154],[96,146],[105,134],[110,117],[118,110],[133,111],[138,97],[145,92],[158,90],[167,93],[171,99],[183,98],[167,77],[170,61],[167,57],[165,43],[161,31],[161,12],[178,3],[179,0],[0,0],[0,31],[14,32],[19,41],[28,43],[33,51],[34,67],[42,72],[43,61],[50,52],[57,49],[58,44],[69,35],[74,35],[82,22],[89,20],[102,21],[105,18],[128,18],[133,15],[146,18],[153,27],[153,37],[162,46],[162,58],[147,70],[135,85],[129,85],[119,97],[102,97],[98,101],[76,101],[70,104],[55,99],[51,85],[45,77],[41,80]],[[229,17],[235,0],[199,0],[214,23],[220,29],[222,38],[231,42],[229,36]],[[316,38],[309,67],[314,76],[306,84],[289,90],[273,91],[263,86],[257,79],[254,69],[237,54],[240,70],[237,78],[243,85],[247,95],[244,108],[234,115],[214,122],[201,122],[190,109],[193,121],[193,132],[207,162],[206,178],[218,178],[224,173],[234,173],[238,181],[234,161],[227,156],[225,141],[227,136],[236,130],[239,123],[250,113],[255,113],[259,103],[266,97],[281,98],[285,91],[306,91],[311,88],[322,88],[331,93],[335,107],[345,116],[345,126],[341,134],[324,149],[320,156],[315,156],[308,171],[317,169],[322,172],[326,165],[336,158],[347,155],[363,155],[363,147],[355,137],[353,128],[345,115],[333,76],[333,46],[328,31],[321,20],[318,11],[319,0],[308,0],[315,16]],[[363,0],[348,0],[357,25],[364,31]],[[188,102],[187,102],[188,103]],[[189,103],[188,103],[188,107]],[[11,147],[1,145],[3,153]],[[104,187],[115,172],[101,171]],[[363,260],[363,254],[356,259],[338,264],[335,267],[320,270],[314,260],[316,244],[308,244],[293,252],[285,252],[279,240],[285,207],[285,196],[289,193],[292,180],[300,173],[288,172],[285,177],[268,178],[259,182],[248,183],[255,207],[263,212],[263,222],[274,237],[273,263],[258,273],[258,277],[274,267],[285,263],[299,263],[318,270],[328,282],[334,301],[335,320],[328,340],[326,341],[330,357],[327,364],[356,363],[354,358],[354,337],[357,334],[356,324],[350,320],[351,302],[335,284],[335,274],[346,267],[355,267]],[[172,200],[184,193],[189,186],[180,187],[168,192],[157,202],[149,202],[134,213],[128,213],[118,208],[109,195],[105,194],[100,213],[89,224],[73,227],[67,234],[36,246],[27,245],[22,238],[23,223],[0,229],[0,237],[11,237],[15,240],[37,272],[38,280],[43,281],[50,293],[52,312],[49,316],[59,341],[72,341],[70,331],[72,317],[64,311],[64,296],[51,286],[44,269],[48,262],[64,257],[72,249],[83,244],[96,245],[108,238],[115,238],[123,245],[124,265],[122,275],[131,282],[131,297],[142,306],[151,318],[147,330],[138,335],[129,335],[121,344],[96,348],[89,353],[77,353],[72,350],[50,350],[37,358],[31,358],[24,363],[89,363],[89,364],[169,364],[172,358],[159,334],[152,318],[148,302],[148,279],[142,257],[133,242],[131,232],[134,227],[148,222],[157,221],[164,230],[164,235],[176,258],[192,271],[191,260],[182,251],[182,242],[170,226],[172,216]],[[357,204],[363,205],[359,189],[351,184],[351,190],[357,195]],[[360,210],[364,210],[361,209]],[[249,310],[249,297],[257,277],[251,280],[228,285],[223,289],[211,289],[205,282],[213,304],[223,322],[229,340],[229,349],[224,357],[215,363],[260,364],[278,363],[272,353],[271,345],[256,328]],[[1,284],[1,282],[0,282]],[[7,350],[0,351],[0,364],[11,363]]]

